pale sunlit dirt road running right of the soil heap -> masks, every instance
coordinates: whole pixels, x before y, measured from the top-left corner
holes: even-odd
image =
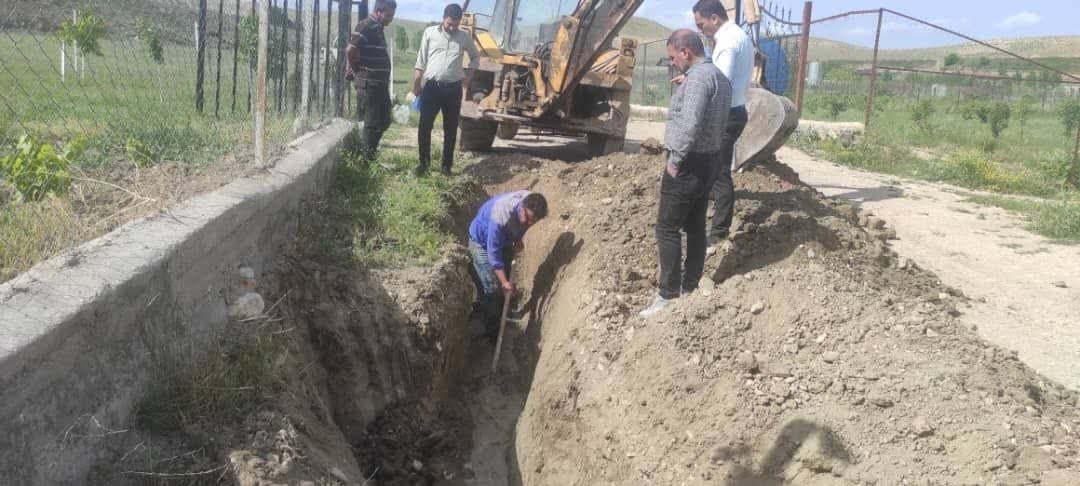
[[[631,125],[635,139],[662,135],[661,123]],[[966,189],[855,171],[787,147],[778,157],[824,194],[895,228],[901,256],[975,300],[963,319],[980,334],[1080,389],[1080,247],[1026,231],[1004,210],[966,202]]]

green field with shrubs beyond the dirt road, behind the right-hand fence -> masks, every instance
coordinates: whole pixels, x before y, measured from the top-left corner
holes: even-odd
[[[827,107],[812,99],[820,95],[808,98],[810,109],[804,118],[831,119]],[[920,130],[912,121],[914,105],[914,99],[879,98],[869,136],[854,147],[809,139],[796,139],[795,144],[836,162],[875,172],[1039,198],[1062,193],[1074,139],[1065,136],[1053,107],[1037,110],[1023,134],[1020,122],[1013,119],[994,144],[996,149],[986,151],[984,147],[993,140],[989,129],[977,120],[964,120],[955,100],[934,99],[930,130]],[[861,122],[863,116],[863,106],[855,97],[837,121]],[[930,157],[916,157],[912,150],[916,148]]]

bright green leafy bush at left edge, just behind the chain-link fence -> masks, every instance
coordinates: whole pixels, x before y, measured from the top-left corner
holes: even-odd
[[[71,187],[68,166],[82,157],[85,144],[77,139],[60,153],[52,145],[28,135],[19,138],[14,153],[0,158],[0,175],[18,190],[24,201],[40,201],[46,195],[65,194]]]

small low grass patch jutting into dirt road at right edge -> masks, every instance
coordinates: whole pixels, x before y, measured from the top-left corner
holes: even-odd
[[[971,202],[997,206],[1017,213],[1027,220],[1028,229],[1063,242],[1080,243],[1080,202],[1072,199],[1037,202],[1001,195],[975,195]]]

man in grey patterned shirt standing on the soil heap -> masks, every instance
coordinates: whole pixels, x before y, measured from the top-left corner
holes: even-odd
[[[651,318],[683,294],[698,288],[705,269],[705,216],[708,193],[720,165],[721,137],[731,111],[731,83],[705,56],[697,32],[676,30],[667,39],[672,67],[685,78],[669,109],[664,146],[669,156],[660,185],[657,243],[660,291],[640,315]],[[686,266],[683,235],[686,232]]]

